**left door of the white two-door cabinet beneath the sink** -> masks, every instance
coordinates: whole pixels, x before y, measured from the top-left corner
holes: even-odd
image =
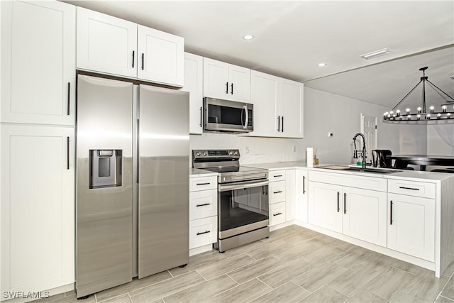
[[[342,233],[342,187],[309,182],[309,223]]]

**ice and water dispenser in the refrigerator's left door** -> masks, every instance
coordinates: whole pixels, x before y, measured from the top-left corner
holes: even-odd
[[[122,150],[90,150],[89,188],[121,186]]]

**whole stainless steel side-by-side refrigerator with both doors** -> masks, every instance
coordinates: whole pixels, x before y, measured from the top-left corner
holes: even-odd
[[[77,79],[77,297],[189,261],[189,94]]]

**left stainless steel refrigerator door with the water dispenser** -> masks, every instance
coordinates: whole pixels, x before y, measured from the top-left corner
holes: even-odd
[[[131,281],[133,84],[79,75],[77,297]]]

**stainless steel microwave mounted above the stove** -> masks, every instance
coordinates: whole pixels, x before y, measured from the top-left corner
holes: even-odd
[[[254,130],[253,104],[204,98],[204,131],[248,133]]]

